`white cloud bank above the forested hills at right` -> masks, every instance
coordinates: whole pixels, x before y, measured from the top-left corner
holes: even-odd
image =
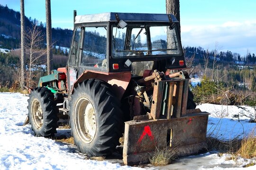
[[[215,42],[222,46],[221,51],[247,54],[256,53],[256,20],[228,21],[219,25],[182,25],[183,46],[201,46],[213,50]]]

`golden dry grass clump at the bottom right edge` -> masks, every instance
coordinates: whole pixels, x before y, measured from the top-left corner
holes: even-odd
[[[238,150],[243,158],[253,158],[256,157],[256,128],[254,128],[251,133],[242,140],[241,147]]]

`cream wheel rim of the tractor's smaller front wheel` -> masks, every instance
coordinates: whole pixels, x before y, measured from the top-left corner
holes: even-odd
[[[44,112],[41,107],[40,102],[37,99],[34,99],[32,102],[32,120],[37,129],[41,128],[44,123]]]

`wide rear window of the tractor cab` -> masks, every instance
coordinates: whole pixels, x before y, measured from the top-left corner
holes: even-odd
[[[128,25],[112,28],[112,56],[151,56],[181,54],[176,27]]]

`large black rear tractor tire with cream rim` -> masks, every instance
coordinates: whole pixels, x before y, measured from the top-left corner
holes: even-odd
[[[74,142],[88,156],[112,153],[122,135],[120,102],[101,80],[79,83],[71,95],[70,125]]]

